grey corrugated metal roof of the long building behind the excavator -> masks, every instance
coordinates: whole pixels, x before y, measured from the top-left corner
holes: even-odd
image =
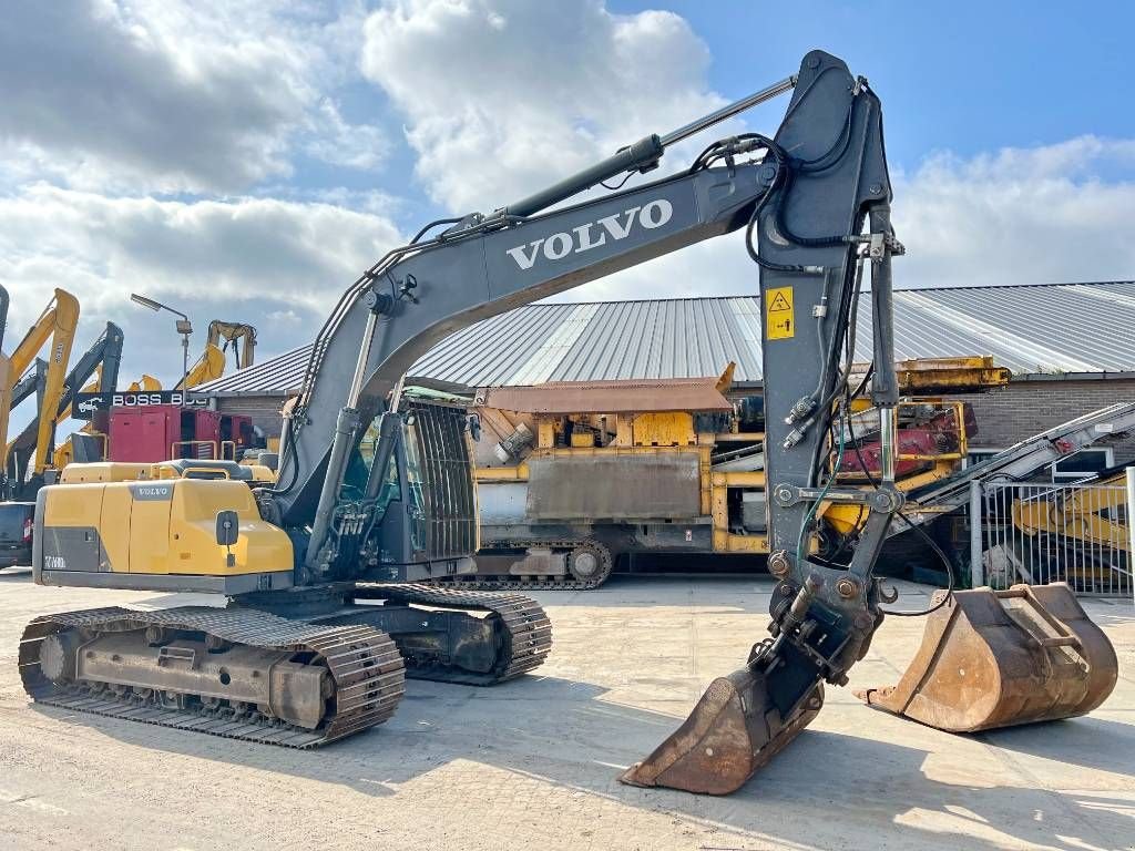
[[[871,298],[856,360],[871,360]],[[202,385],[202,393],[285,395],[310,346]],[[894,293],[894,353],[993,355],[1015,373],[1135,371],[1135,281],[905,289]],[[465,387],[716,376],[760,380],[756,296],[529,304],[435,346],[411,378]]]

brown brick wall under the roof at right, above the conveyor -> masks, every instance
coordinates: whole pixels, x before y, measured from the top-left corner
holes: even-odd
[[[1053,426],[1116,402],[1135,402],[1135,379],[1012,381],[989,393],[959,397],[974,406],[975,447],[1004,448]],[[1135,460],[1135,438],[1110,439],[1116,463]]]

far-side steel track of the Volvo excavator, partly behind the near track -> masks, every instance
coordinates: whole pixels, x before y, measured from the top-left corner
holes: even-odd
[[[501,658],[493,672],[477,674],[447,667],[419,668],[410,665],[406,675],[417,680],[495,685],[539,667],[552,651],[552,622],[536,600],[523,595],[466,591],[464,588],[404,582],[358,583],[354,585],[353,597],[438,608],[479,609],[499,616],[504,640]]]

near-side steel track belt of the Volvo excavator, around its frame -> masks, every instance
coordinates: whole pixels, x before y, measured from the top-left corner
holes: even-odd
[[[270,717],[254,707],[207,706],[202,701],[166,706],[144,689],[112,689],[82,680],[58,683],[41,665],[44,640],[72,630],[101,638],[149,627],[202,633],[205,641],[227,642],[322,659],[334,682],[334,709],[316,728]],[[35,702],[73,711],[126,718],[145,724],[278,744],[314,748],[360,733],[389,718],[404,691],[404,666],[386,633],[367,625],[318,626],[254,609],[207,607],[135,612],[98,608],[43,615],[20,639],[19,673]]]

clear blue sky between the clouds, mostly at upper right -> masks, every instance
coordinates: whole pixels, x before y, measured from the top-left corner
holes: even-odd
[[[606,8],[681,15],[713,54],[709,85],[729,99],[794,71],[813,48],[835,53],[883,96],[893,168],[913,170],[942,150],[966,158],[1088,134],[1135,137],[1128,58],[1135,3],[1093,3],[1088,12],[1056,2],[807,2],[780,16],[759,2],[612,0]],[[397,120],[372,85],[348,85],[343,96],[344,115],[355,120]],[[782,110],[782,101],[773,102],[748,121],[771,129]],[[438,209],[411,179],[413,163],[413,152],[397,145],[382,180],[402,187],[409,203],[400,218],[407,222]],[[373,185],[350,170],[309,167],[310,174],[297,175],[301,183]],[[1100,174],[1129,177],[1130,169],[1105,163]]]

